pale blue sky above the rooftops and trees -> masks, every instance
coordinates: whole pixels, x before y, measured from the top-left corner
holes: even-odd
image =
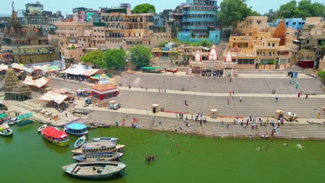
[[[186,0],[15,0],[15,10],[25,9],[26,3],[35,3],[40,1],[44,5],[44,10],[56,12],[61,10],[63,15],[72,14],[72,8],[85,7],[98,9],[99,7],[119,6],[119,3],[131,3],[132,7],[140,3],[151,3],[156,6],[156,12],[165,9],[174,9]],[[288,3],[291,0],[248,0],[248,6],[262,15],[269,9],[278,9],[281,4]],[[313,0],[314,2],[315,0]],[[322,3],[324,0],[317,0]],[[11,14],[11,0],[1,0],[0,14]],[[218,5],[221,1],[218,1]]]

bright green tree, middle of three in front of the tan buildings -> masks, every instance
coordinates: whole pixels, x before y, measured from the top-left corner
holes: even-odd
[[[125,66],[126,53],[123,49],[108,49],[103,53],[102,60],[106,64],[106,68],[122,68]]]

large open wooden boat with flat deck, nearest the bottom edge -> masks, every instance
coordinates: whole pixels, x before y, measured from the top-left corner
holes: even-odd
[[[65,173],[83,179],[108,179],[124,171],[122,162],[78,162],[63,166]]]

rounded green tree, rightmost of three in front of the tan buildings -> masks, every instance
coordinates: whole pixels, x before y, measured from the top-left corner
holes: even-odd
[[[149,66],[150,58],[152,57],[151,49],[145,48],[143,45],[137,45],[130,50],[130,60],[138,68]]]

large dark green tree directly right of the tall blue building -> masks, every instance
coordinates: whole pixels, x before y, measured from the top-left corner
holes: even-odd
[[[256,11],[247,6],[247,0],[224,0],[220,3],[220,10],[217,14],[218,21],[229,26],[243,21],[248,16],[260,16]]]

